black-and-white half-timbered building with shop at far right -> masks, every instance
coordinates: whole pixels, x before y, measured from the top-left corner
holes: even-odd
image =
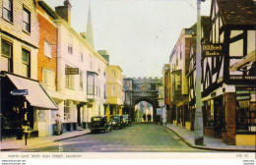
[[[205,135],[227,144],[255,145],[255,62],[230,69],[255,54],[255,8],[253,0],[212,0],[210,44],[202,45]],[[204,52],[209,45],[219,53]]]

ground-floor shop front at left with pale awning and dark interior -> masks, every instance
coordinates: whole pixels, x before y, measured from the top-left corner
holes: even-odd
[[[40,83],[3,73],[1,99],[2,138],[23,138],[24,132],[29,138],[51,135],[51,112],[58,108]]]

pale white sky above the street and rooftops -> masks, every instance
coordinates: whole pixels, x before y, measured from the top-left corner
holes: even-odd
[[[44,0],[52,9],[64,0]],[[89,0],[70,0],[71,27],[86,31]],[[201,3],[209,16],[211,0]],[[197,0],[91,0],[96,50],[107,50],[110,65],[126,78],[161,77],[181,29],[197,20]]]

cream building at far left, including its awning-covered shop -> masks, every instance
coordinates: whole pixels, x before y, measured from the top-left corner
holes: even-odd
[[[37,81],[39,24],[35,1],[0,2],[1,131],[22,138],[24,131],[38,137],[45,114],[57,110],[54,101]],[[40,98],[40,99],[38,99]]]

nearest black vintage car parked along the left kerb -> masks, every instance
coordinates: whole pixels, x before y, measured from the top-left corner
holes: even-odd
[[[91,118],[90,131],[94,133],[96,131],[103,131],[104,133],[111,132],[111,123],[107,122],[106,116],[94,116]]]

